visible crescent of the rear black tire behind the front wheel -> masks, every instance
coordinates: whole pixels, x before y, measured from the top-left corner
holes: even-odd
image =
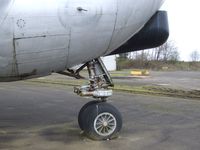
[[[99,103],[99,101],[90,101],[90,102],[86,103],[81,108],[81,110],[79,111],[79,114],[78,114],[78,124],[79,124],[79,127],[80,127],[81,130],[84,130],[84,127],[83,127],[83,122],[84,122],[84,119],[85,119],[84,111],[88,108],[88,106],[96,104],[96,103]]]

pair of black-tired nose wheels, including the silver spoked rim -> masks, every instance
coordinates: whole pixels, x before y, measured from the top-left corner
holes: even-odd
[[[78,123],[89,138],[107,140],[117,137],[122,128],[122,117],[111,104],[91,101],[81,108]]]

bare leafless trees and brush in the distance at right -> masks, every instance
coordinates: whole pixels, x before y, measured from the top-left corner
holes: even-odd
[[[200,54],[194,50],[190,54],[192,63],[200,60]],[[180,53],[173,41],[168,41],[154,49],[120,54],[117,58],[118,69],[128,69],[138,66],[139,68],[154,68],[163,65],[175,65],[180,61]]]

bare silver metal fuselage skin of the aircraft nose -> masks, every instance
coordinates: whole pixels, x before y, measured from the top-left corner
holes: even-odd
[[[163,0],[0,0],[0,80],[42,76],[124,44]]]

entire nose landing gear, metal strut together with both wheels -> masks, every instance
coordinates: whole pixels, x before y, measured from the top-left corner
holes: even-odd
[[[116,138],[122,128],[120,112],[107,98],[112,96],[109,87],[114,86],[112,79],[100,58],[87,62],[71,76],[80,77],[79,72],[87,67],[89,84],[75,87],[74,92],[80,96],[93,97],[95,101],[85,104],[78,115],[78,123],[84,133],[94,140]],[[63,74],[63,73],[62,73]]]

